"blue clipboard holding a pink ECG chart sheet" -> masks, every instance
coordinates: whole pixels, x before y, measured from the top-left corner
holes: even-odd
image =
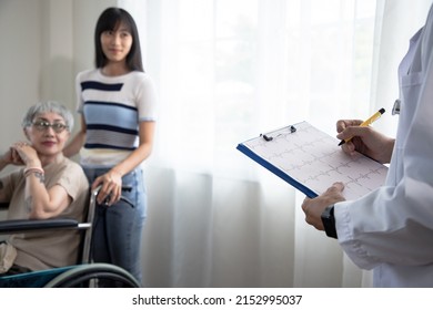
[[[240,143],[244,155],[313,198],[333,183],[344,183],[343,196],[356,199],[383,186],[387,167],[356,153],[345,154],[335,137],[301,122]]]

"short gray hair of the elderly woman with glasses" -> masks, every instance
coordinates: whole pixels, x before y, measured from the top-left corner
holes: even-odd
[[[24,117],[22,118],[21,126],[26,128],[32,125],[34,117],[42,113],[56,113],[63,117],[66,125],[68,126],[68,132],[73,130],[73,116],[68,107],[56,102],[56,101],[44,101],[37,103],[27,111]]]

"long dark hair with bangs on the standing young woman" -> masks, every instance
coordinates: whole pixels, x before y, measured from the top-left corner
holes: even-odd
[[[128,28],[132,35],[131,50],[127,55],[128,69],[131,71],[144,72],[141,60],[139,31],[137,30],[135,21],[130,13],[121,8],[108,8],[98,19],[97,28],[94,30],[95,65],[97,68],[103,68],[108,63],[108,59],[101,46],[101,33],[108,30],[117,30],[121,23]]]

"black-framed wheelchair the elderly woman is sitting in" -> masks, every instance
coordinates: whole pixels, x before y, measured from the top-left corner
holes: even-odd
[[[109,281],[115,287],[139,288],[140,283],[123,268],[91,260],[92,227],[100,188],[90,193],[85,223],[74,219],[23,219],[0,221],[0,235],[79,229],[82,234],[81,262],[74,266],[30,271],[12,276],[0,275],[0,288],[99,288]],[[123,199],[123,198],[121,198]],[[4,205],[2,206],[4,208]]]

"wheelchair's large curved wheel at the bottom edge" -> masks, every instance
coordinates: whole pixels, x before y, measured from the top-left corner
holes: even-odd
[[[124,269],[109,264],[81,265],[59,275],[46,288],[139,288],[140,283]]]

